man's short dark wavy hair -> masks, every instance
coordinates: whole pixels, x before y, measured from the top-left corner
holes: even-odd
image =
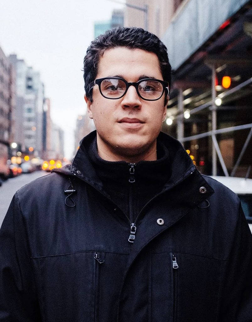
[[[118,27],[107,30],[104,34],[95,38],[87,48],[84,57],[84,81],[86,97],[92,102],[92,90],[88,92],[89,84],[95,80],[98,72],[100,57],[106,49],[115,47],[126,47],[129,49],[143,49],[154,52],[158,56],[160,71],[164,81],[171,84],[171,65],[166,46],[161,40],[142,28]]]

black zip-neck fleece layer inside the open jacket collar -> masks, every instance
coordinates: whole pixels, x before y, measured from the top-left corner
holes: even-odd
[[[169,152],[162,142],[157,141],[158,159],[156,161],[136,163],[134,183],[129,182],[130,165],[127,162],[106,161],[98,155],[96,138],[90,145],[88,154],[104,190],[128,218],[133,217],[132,222],[135,222],[144,205],[162,191],[170,177]],[[132,214],[130,213],[130,199]]]

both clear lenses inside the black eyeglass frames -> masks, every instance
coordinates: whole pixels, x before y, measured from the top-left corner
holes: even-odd
[[[101,92],[106,98],[120,98],[125,94],[126,83],[117,79],[106,79],[101,82]],[[159,99],[163,93],[163,85],[154,80],[141,81],[138,84],[140,97],[143,99]]]

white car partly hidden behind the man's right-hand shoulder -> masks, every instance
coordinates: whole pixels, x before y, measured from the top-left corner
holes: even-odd
[[[252,179],[224,176],[212,176],[212,178],[221,182],[238,195],[252,232]]]

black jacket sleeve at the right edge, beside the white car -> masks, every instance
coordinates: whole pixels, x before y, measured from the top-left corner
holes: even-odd
[[[239,204],[239,218],[225,271],[220,321],[252,321],[252,235]]]

